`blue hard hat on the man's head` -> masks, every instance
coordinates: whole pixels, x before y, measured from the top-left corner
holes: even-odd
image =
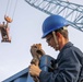
[[[43,37],[46,37],[52,31],[57,31],[63,26],[68,26],[69,22],[60,15],[50,15],[43,23]]]

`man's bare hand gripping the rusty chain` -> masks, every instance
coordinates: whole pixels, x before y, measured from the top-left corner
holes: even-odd
[[[42,70],[39,69],[38,66],[31,65],[28,69],[29,69],[28,72],[32,77],[39,77],[39,73],[40,73]]]

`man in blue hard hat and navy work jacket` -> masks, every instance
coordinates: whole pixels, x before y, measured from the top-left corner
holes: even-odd
[[[50,15],[43,23],[43,37],[56,51],[57,68],[52,72],[43,71],[38,66],[29,66],[29,74],[39,82],[82,82],[83,52],[69,40],[69,22],[60,15]],[[56,63],[54,63],[56,65]]]

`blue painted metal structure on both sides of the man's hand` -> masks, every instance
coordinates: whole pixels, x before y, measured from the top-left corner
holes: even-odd
[[[55,59],[52,57],[50,57],[48,55],[44,55],[40,58],[39,68],[44,71],[51,72],[55,68],[52,66],[54,61],[55,61]],[[2,82],[34,82],[34,79],[29,75],[28,68],[26,68]]]

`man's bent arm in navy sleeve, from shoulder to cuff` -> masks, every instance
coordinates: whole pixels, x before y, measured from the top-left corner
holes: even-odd
[[[67,49],[54,72],[40,71],[40,82],[76,82],[81,65],[72,49]]]

